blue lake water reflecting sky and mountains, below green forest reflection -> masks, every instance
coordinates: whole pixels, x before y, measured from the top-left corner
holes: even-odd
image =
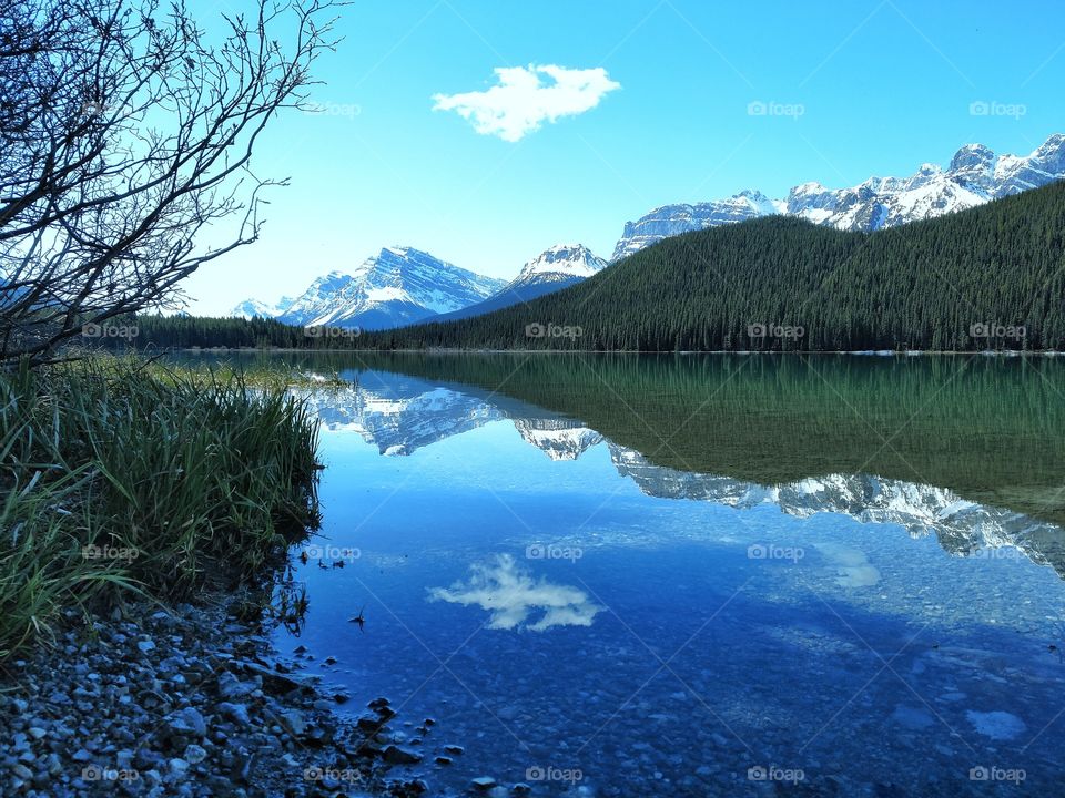
[[[1047,522],[870,474],[665,469],[501,395],[345,376],[313,401],[321,543],[353,554],[297,563],[311,611],[277,642],[389,697],[434,794],[1059,789]]]

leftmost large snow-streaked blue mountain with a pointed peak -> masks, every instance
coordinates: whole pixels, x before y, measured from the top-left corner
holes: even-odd
[[[292,325],[384,329],[468,307],[503,280],[484,277],[414,247],[386,247],[349,274],[318,277],[301,296],[271,314]],[[254,300],[243,303],[237,309]]]

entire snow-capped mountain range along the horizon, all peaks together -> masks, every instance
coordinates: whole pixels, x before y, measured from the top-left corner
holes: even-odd
[[[1028,155],[996,155],[983,144],[961,147],[944,168],[923,164],[907,177],[870,177],[856,186],[803,183],[772,200],[746,190],[724,200],[655,208],[625,225],[612,263],[684,233],[765,216],[792,216],[849,232],[874,232],[973,208],[1065,178],[1065,135]],[[509,283],[485,277],[413,247],[386,247],[358,268],[317,278],[301,296],[247,299],[243,318],[366,330],[447,321],[491,313],[574,286],[608,266],[580,244],[556,245],[525,264]]]

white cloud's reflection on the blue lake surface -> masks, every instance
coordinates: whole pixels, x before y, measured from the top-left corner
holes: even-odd
[[[470,576],[450,587],[433,587],[429,601],[463,606],[476,605],[491,613],[488,628],[527,628],[546,632],[555,626],[591,626],[604,607],[577,587],[536,580],[509,554],[499,554],[487,563],[470,566]],[[544,614],[527,623],[536,611]]]

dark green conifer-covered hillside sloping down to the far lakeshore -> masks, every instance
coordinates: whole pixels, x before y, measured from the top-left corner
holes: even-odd
[[[571,288],[358,347],[1065,348],[1065,184],[878,233],[785,217],[690,233]]]

